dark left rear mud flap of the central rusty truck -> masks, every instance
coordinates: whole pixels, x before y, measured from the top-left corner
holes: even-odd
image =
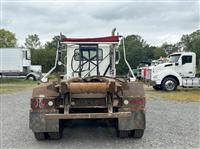
[[[58,111],[54,112],[58,113]],[[58,132],[59,120],[46,119],[46,112],[30,111],[29,128],[33,132]]]

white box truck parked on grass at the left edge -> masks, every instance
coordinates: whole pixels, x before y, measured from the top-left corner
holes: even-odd
[[[41,65],[31,65],[30,50],[25,48],[0,48],[0,76],[38,80]]]

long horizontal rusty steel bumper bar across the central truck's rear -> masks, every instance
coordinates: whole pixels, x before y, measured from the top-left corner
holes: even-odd
[[[130,117],[130,116],[131,116],[131,112],[46,114],[47,119],[97,119],[97,118]]]

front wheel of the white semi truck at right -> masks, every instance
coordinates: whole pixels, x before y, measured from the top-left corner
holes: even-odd
[[[177,85],[177,81],[172,77],[167,77],[162,81],[162,89],[165,91],[175,91]]]

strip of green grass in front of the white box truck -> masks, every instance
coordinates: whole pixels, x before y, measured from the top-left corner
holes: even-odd
[[[23,91],[33,88],[37,85],[37,81],[23,79],[0,79],[0,93],[8,93],[15,91]]]

